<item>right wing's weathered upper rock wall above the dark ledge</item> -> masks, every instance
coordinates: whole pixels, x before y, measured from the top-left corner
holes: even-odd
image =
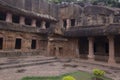
[[[62,27],[73,26],[90,27],[104,26],[119,23],[120,9],[106,6],[89,5],[81,7],[76,4],[63,4],[60,6],[59,19]]]

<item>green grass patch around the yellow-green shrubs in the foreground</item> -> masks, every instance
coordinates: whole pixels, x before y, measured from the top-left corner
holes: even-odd
[[[76,80],[92,80],[92,74],[89,74],[87,72],[77,71],[73,73],[64,74],[61,76],[55,76],[55,77],[25,77],[22,80],[62,80],[64,76],[73,76]],[[104,77],[103,80],[112,80],[109,78]]]

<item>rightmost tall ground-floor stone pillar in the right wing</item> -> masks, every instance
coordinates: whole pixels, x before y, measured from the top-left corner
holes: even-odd
[[[109,64],[114,64],[115,62],[115,47],[114,47],[114,36],[108,36],[109,40]]]

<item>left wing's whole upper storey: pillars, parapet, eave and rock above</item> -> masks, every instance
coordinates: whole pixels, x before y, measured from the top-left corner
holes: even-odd
[[[25,32],[42,31],[44,33],[45,29],[50,28],[57,22],[56,13],[53,14],[53,11],[57,12],[55,11],[57,10],[56,5],[47,3],[44,0],[29,0],[28,3],[27,1],[0,0],[0,29]],[[37,7],[40,4],[43,7]]]

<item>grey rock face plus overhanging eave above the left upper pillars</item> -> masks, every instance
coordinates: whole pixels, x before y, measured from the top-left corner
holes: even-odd
[[[38,1],[38,2],[36,2]],[[40,6],[42,4],[43,6]],[[0,8],[3,12],[11,12],[34,18],[56,20],[56,5],[43,0],[0,0]],[[57,12],[57,11],[56,11]]]

